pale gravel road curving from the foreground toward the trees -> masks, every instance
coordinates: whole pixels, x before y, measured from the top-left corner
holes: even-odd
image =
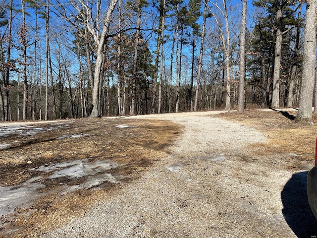
[[[171,120],[184,126],[183,134],[141,179],[122,185],[114,196],[96,201],[80,217],[43,238],[301,234],[290,226],[292,217],[285,211],[285,184],[294,175],[276,165],[283,155],[255,156],[246,147],[265,143],[261,132],[206,113],[131,118]],[[305,173],[298,176],[300,182]]]

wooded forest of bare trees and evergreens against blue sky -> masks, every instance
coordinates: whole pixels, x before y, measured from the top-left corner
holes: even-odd
[[[315,49],[316,0],[1,0],[0,120],[312,109]]]

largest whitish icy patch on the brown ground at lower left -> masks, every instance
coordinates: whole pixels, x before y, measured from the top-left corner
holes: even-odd
[[[120,179],[124,178],[123,176],[112,176],[109,173],[102,172],[125,164],[118,164],[117,162],[111,162],[110,160],[98,160],[93,163],[87,163],[87,161],[88,160],[75,160],[40,166],[39,168],[30,170],[53,173],[48,179],[61,177],[80,179],[87,176],[84,182],[79,185],[67,186],[67,184],[65,184],[65,186],[61,188],[61,195],[78,189],[96,187],[105,182],[120,183]],[[44,176],[37,176],[28,179],[21,185],[0,187],[0,217],[13,213],[16,208],[27,208],[35,201],[35,199],[46,195],[47,192],[37,191],[38,189],[46,187],[45,184],[41,183],[45,179]],[[53,191],[51,190],[50,192]]]

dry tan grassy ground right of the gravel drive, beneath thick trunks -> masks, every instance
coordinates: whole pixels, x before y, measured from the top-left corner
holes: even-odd
[[[311,161],[313,164],[317,127],[313,123],[295,123],[296,115],[297,112],[249,110],[244,113],[226,113],[219,117],[251,126],[267,136],[267,143],[249,146],[255,154],[296,154],[299,155],[298,162]],[[291,167],[298,169],[296,165]]]

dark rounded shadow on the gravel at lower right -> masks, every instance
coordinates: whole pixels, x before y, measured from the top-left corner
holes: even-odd
[[[299,238],[317,237],[317,221],[307,199],[307,174],[294,174],[281,192],[285,221]]]

